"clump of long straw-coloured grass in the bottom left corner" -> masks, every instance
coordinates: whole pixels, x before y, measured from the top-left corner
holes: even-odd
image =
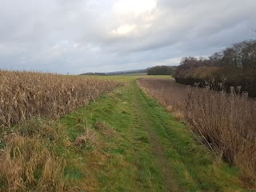
[[[0,154],[1,191],[65,191],[65,161],[36,137],[10,134]]]

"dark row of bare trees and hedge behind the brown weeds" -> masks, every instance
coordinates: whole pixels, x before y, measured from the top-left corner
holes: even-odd
[[[186,85],[201,82],[201,86],[205,80],[221,82],[225,78],[227,90],[241,86],[242,91],[256,97],[256,40],[235,43],[209,58],[182,58],[174,78]]]

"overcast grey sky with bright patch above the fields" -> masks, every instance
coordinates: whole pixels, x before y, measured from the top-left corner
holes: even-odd
[[[255,38],[255,0],[0,0],[0,69],[178,65]]]

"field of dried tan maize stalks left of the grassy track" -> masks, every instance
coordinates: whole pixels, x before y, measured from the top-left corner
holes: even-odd
[[[0,71],[0,126],[32,117],[58,118],[120,83],[98,78]]]

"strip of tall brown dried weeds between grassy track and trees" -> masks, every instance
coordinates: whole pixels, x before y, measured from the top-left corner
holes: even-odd
[[[256,101],[238,88],[217,92],[182,86],[174,80],[142,78],[138,85],[179,119],[186,119],[201,142],[230,164],[256,178]],[[215,84],[214,84],[215,85]]]

